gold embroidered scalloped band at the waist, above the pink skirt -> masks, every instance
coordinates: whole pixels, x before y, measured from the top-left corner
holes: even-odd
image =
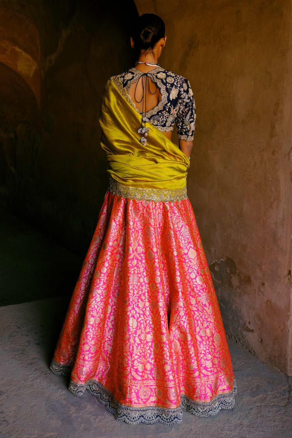
[[[123,198],[137,199],[137,201],[174,202],[187,198],[186,187],[176,190],[129,187],[117,183],[111,177],[109,177],[109,191]]]

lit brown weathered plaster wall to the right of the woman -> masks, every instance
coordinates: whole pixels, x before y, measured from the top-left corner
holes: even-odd
[[[291,2],[135,3],[165,19],[160,64],[193,88],[188,194],[226,332],[292,374]]]

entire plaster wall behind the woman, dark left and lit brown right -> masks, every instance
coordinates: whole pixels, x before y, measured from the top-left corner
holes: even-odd
[[[135,3],[164,18],[161,64],[195,95],[188,193],[226,331],[292,374],[290,1]],[[0,5],[0,203],[82,255],[107,185],[102,89],[133,64],[137,16],[95,4]]]

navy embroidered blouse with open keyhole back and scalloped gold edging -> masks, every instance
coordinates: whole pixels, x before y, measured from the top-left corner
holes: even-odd
[[[112,79],[119,84],[122,95],[140,114],[129,95],[130,86],[137,82],[142,71],[132,67],[130,70]],[[158,86],[161,100],[155,108],[146,113],[146,122],[150,122],[159,131],[172,131],[176,124],[177,135],[181,140],[193,141],[195,129],[196,109],[190,83],[183,76],[164,70],[162,67],[147,73],[149,79]]]

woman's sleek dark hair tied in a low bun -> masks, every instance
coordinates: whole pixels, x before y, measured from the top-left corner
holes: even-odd
[[[143,14],[136,21],[131,36],[138,52],[153,49],[159,39],[165,36],[164,21],[158,15]]]

